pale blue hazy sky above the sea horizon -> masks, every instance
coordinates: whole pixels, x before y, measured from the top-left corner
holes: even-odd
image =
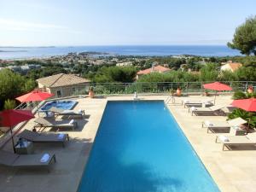
[[[0,0],[0,46],[227,44],[255,0]]]

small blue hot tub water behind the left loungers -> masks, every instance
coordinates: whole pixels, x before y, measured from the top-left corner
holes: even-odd
[[[76,101],[53,101],[53,102],[46,102],[44,106],[41,108],[41,111],[47,111],[49,108],[55,107],[55,108],[61,108],[64,110],[70,110],[73,109],[74,106],[78,102]]]

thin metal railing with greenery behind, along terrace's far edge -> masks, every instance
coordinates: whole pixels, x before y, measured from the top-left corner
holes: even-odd
[[[204,92],[203,84],[212,82],[136,82],[136,83],[90,83],[94,88],[96,95],[123,95],[132,94],[135,91],[139,94],[168,94],[171,90],[181,88],[186,94],[202,94]],[[230,85],[233,92],[236,90],[247,90],[247,87],[256,88],[255,81],[225,81],[221,82]],[[84,84],[84,89],[71,94],[70,96],[85,95],[88,93],[88,84]]]

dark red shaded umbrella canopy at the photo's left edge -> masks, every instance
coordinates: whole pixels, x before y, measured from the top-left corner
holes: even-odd
[[[0,113],[0,125],[2,126],[15,126],[22,121],[34,118],[30,110],[4,110]]]

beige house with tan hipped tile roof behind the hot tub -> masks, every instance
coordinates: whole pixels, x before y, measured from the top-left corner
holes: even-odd
[[[39,89],[55,94],[55,97],[72,96],[76,92],[89,90],[90,86],[90,80],[64,73],[37,79],[37,82]]]

